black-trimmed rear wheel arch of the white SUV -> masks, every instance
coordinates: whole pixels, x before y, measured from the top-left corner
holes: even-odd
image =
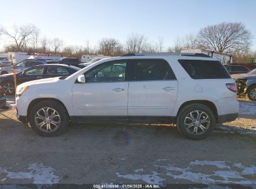
[[[216,122],[218,122],[218,111],[217,111],[216,105],[214,103],[212,103],[211,101],[207,101],[207,100],[191,100],[191,101],[186,101],[185,103],[181,104],[181,106],[179,107],[175,122],[177,121],[177,118],[179,116],[179,113],[181,113],[181,110],[189,104],[203,104],[203,105],[209,107],[212,110],[212,113],[214,113]]]

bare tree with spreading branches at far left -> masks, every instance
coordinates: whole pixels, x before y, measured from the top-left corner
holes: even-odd
[[[35,25],[14,25],[12,30],[7,30],[4,27],[0,27],[0,33],[11,39],[16,45],[17,51],[26,50],[27,45],[32,40],[32,36],[39,30]]]

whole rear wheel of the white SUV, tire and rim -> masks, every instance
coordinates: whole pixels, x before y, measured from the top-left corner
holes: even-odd
[[[196,117],[199,119],[193,119]],[[214,113],[204,104],[188,104],[181,109],[177,119],[179,132],[183,136],[194,140],[204,139],[209,136],[215,125],[216,118]]]

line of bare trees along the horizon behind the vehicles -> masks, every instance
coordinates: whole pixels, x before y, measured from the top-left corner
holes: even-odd
[[[245,25],[237,22],[222,22],[208,25],[197,34],[178,37],[173,46],[164,45],[163,37],[157,42],[148,42],[145,35],[132,33],[125,44],[115,38],[103,38],[96,47],[85,45],[65,45],[59,37],[49,39],[40,36],[36,25],[19,25],[7,29],[0,25],[0,38],[7,39],[4,52],[54,53],[67,57],[80,58],[83,54],[103,54],[120,56],[125,53],[180,52],[184,48],[205,48],[232,55],[234,62],[248,62],[249,57],[256,57],[251,50],[252,35]]]

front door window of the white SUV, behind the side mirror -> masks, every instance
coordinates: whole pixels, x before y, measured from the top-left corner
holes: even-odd
[[[87,83],[125,81],[126,60],[113,60],[85,73]]]

